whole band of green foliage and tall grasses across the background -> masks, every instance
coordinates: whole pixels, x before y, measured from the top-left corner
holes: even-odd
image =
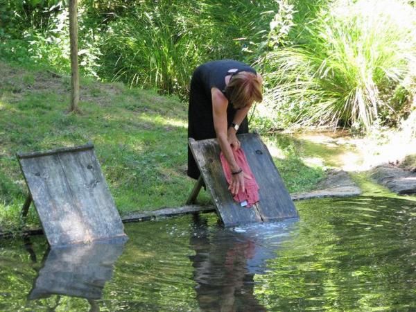
[[[413,110],[414,1],[85,0],[78,12],[80,68],[102,80],[187,98],[198,64],[254,64],[265,78],[265,130],[368,129]],[[67,2],[3,1],[0,15],[0,58],[69,72]]]

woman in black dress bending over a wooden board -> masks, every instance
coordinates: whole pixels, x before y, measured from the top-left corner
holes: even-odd
[[[244,173],[232,153],[240,147],[236,135],[248,133],[247,113],[254,101],[263,100],[261,76],[250,66],[234,60],[200,65],[191,79],[188,137],[217,138],[232,171],[229,190],[244,191]],[[188,175],[198,179],[200,171],[188,147]]]

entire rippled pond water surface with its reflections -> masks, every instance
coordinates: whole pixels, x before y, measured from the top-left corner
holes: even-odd
[[[296,202],[300,219],[129,223],[125,243],[0,241],[0,311],[415,311],[415,198]]]

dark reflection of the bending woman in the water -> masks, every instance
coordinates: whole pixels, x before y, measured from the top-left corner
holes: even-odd
[[[190,244],[195,255],[196,299],[201,311],[266,311],[254,296],[254,273],[247,268],[255,254],[254,241],[239,233],[209,232],[199,223]]]

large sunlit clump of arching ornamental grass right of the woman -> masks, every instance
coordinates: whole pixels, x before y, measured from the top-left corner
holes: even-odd
[[[259,60],[277,118],[368,129],[406,112],[404,81],[416,64],[416,10],[407,1],[334,1],[296,40]]]

